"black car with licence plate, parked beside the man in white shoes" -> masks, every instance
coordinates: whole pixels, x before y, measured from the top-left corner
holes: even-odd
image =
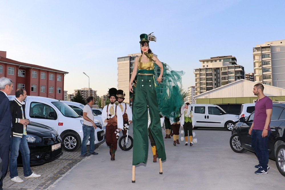
[[[46,125],[30,122],[27,126],[27,141],[31,166],[54,161],[62,155],[62,139],[54,129]],[[18,166],[23,166],[20,151],[17,162]]]

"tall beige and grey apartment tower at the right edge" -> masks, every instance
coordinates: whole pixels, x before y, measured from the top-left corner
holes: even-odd
[[[253,68],[255,82],[285,88],[285,40],[256,45]]]

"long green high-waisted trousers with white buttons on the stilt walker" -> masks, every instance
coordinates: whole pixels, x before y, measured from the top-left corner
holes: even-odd
[[[136,98],[133,111],[133,165],[146,163],[148,156],[148,112],[150,114],[150,132],[154,139],[158,158],[166,160],[164,142],[162,137],[160,116],[156,100],[156,90],[153,75],[138,75]]]

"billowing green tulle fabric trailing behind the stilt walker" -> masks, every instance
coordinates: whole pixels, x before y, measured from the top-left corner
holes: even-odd
[[[159,111],[162,116],[176,118],[180,113],[181,106],[184,104],[180,90],[182,88],[182,76],[185,72],[172,70],[167,64],[162,64],[163,77],[161,83],[158,83],[156,80],[159,76],[160,68],[156,64],[154,67]]]

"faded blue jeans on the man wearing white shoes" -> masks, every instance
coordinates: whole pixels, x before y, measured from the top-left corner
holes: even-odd
[[[9,158],[9,169],[11,179],[18,176],[17,171],[17,158],[19,156],[19,150],[22,155],[24,176],[28,177],[32,175],[30,168],[30,149],[28,147],[27,136],[23,135],[20,137],[10,138],[10,158]]]

